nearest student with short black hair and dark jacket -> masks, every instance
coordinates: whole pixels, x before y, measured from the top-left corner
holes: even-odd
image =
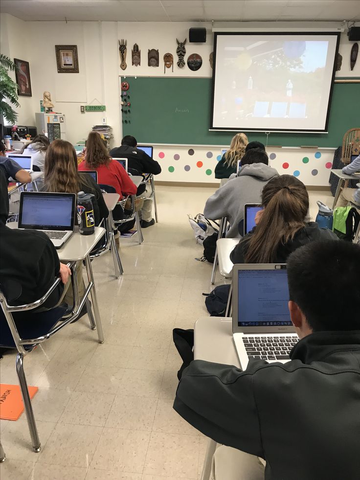
[[[183,371],[174,409],[222,444],[212,479],[359,478],[359,265],[360,246],[349,242],[313,242],[289,256],[300,338],[289,362],[250,360],[243,372],[195,360]]]

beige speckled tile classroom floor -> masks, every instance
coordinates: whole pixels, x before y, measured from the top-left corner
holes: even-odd
[[[187,213],[203,211],[211,187],[158,186],[159,223],[144,243],[121,239],[124,275],[111,254],[92,263],[105,343],[87,317],[24,361],[42,450],[32,452],[25,414],[1,420],[4,480],[184,480],[200,478],[206,438],[172,409],[180,357],[172,329],[206,316],[212,265],[194,258]],[[330,193],[311,191],[332,205]],[[136,237],[135,237],[136,238]],[[223,283],[219,274],[217,284]],[[1,383],[17,384],[15,354],[0,361]]]

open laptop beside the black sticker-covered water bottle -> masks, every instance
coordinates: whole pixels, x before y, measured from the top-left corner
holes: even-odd
[[[75,223],[74,193],[21,192],[19,229],[41,230],[60,249]]]

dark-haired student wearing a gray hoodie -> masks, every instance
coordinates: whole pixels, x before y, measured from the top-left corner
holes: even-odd
[[[207,199],[204,216],[210,220],[227,217],[230,228],[227,238],[238,238],[238,225],[244,219],[245,204],[260,204],[266,183],[279,174],[269,166],[268,155],[259,148],[248,150],[241,160],[237,177],[230,179]]]

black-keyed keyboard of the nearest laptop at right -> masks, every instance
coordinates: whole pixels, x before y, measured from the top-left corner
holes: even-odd
[[[243,337],[245,350],[249,359],[257,360],[289,360],[293,346],[298,342],[297,337],[281,336],[256,336]]]

